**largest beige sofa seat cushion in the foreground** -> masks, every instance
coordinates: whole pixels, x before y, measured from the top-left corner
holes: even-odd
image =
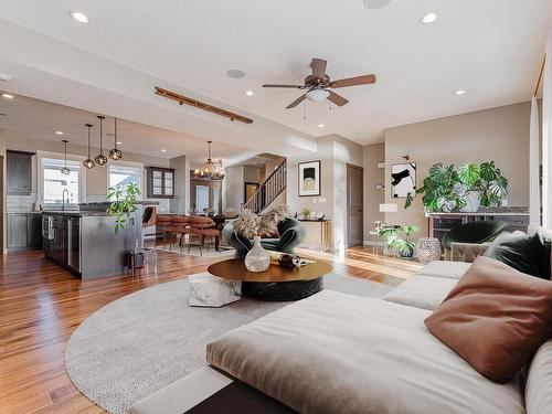
[[[521,414],[424,326],[429,311],[322,290],[208,344],[208,361],[300,413]]]

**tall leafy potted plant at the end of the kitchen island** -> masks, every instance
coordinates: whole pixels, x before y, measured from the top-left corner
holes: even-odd
[[[139,195],[141,195],[140,189],[134,182],[127,184],[125,191],[120,185],[110,187],[107,194],[107,198],[113,200],[107,212],[115,216],[115,234],[130,226],[132,246],[128,252],[128,258],[134,262],[135,267],[144,265],[144,252],[140,246],[141,223],[138,216]]]

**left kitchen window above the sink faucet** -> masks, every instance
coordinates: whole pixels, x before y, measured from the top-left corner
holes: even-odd
[[[63,159],[41,158],[42,171],[42,202],[44,204],[61,204],[65,192],[65,202],[78,204],[81,202],[81,162],[67,160],[71,172],[62,174],[65,164]]]

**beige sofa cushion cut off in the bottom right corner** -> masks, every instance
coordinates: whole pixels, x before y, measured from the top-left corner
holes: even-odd
[[[552,339],[544,342],[529,365],[527,414],[552,413]]]

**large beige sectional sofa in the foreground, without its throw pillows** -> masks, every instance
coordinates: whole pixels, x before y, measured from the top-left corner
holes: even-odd
[[[253,412],[552,413],[552,340],[523,372],[496,383],[424,326],[469,266],[433,262],[383,299],[323,290],[286,306],[209,343],[210,367],[131,413],[216,412],[246,401],[231,392],[236,384],[261,391],[250,397],[265,408]]]

